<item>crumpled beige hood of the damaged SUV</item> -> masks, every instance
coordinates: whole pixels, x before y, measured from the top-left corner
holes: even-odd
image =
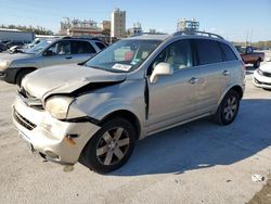
[[[40,68],[28,74],[22,87],[33,97],[70,93],[91,82],[115,82],[126,79],[125,73],[111,73],[77,64]]]

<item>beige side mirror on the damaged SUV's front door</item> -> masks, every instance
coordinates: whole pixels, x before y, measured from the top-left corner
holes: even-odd
[[[168,63],[159,63],[154,67],[153,74],[150,77],[150,81],[152,84],[155,84],[156,80],[158,79],[158,76],[162,75],[172,75],[173,74],[173,68],[170,66],[170,64]]]

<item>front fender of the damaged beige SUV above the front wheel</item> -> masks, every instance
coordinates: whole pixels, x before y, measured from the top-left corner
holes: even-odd
[[[67,118],[89,116],[102,120],[116,111],[128,111],[143,126],[146,105],[144,88],[144,80],[124,81],[80,95],[70,104]]]

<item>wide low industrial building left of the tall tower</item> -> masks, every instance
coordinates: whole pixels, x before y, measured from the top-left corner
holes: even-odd
[[[65,18],[65,22],[61,22],[60,35],[67,36],[101,36],[102,29],[98,26],[98,23],[89,21],[80,21]]]

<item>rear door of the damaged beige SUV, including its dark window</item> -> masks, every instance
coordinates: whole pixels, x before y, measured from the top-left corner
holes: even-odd
[[[231,79],[231,66],[224,60],[220,42],[209,39],[195,39],[199,74],[199,114],[212,112]]]

